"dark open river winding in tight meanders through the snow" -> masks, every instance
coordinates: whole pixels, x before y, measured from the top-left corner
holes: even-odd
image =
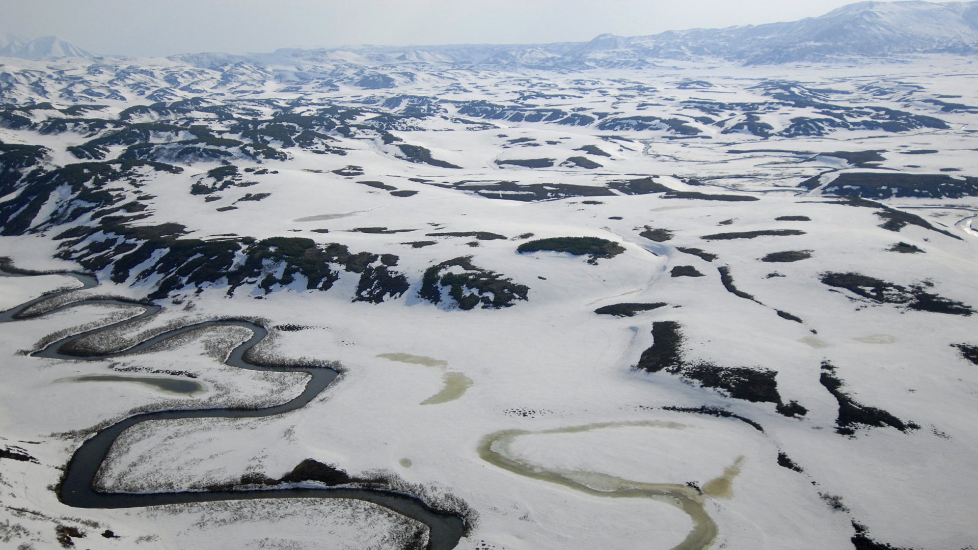
[[[9,267],[7,270],[0,269],[0,276],[8,277],[41,274],[49,273],[33,273],[20,270],[12,272]],[[106,457],[109,454],[112,443],[115,442],[115,439],[119,435],[132,426],[152,420],[173,420],[187,418],[261,418],[287,413],[305,406],[306,403],[310,402],[313,398],[319,395],[320,392],[326,390],[326,388],[329,387],[336,378],[337,373],[329,367],[262,365],[246,361],[244,359],[245,353],[255,344],[258,344],[264,340],[265,337],[268,336],[268,330],[250,321],[241,319],[219,319],[187,325],[178,329],[166,331],[139,344],[109,353],[87,354],[72,352],[70,344],[94,334],[108,331],[121,325],[132,323],[139,319],[153,315],[160,310],[160,306],[152,303],[141,303],[123,299],[90,298],[72,301],[40,312],[27,312],[34,305],[37,305],[44,300],[66,295],[67,293],[91,289],[98,285],[98,281],[91,275],[73,272],[61,272],[57,274],[74,277],[82,283],[82,286],[66,291],[50,293],[40,298],[34,298],[14,308],[8,309],[7,311],[0,312],[0,323],[37,318],[83,304],[135,305],[142,307],[144,310],[142,313],[128,319],[76,335],[68,336],[53,344],[48,344],[43,349],[32,353],[34,356],[65,360],[96,361],[117,357],[120,355],[138,353],[160,342],[205,327],[236,326],[243,327],[251,331],[251,338],[249,338],[243,344],[239,344],[231,351],[231,354],[225,361],[226,364],[233,367],[255,371],[301,372],[309,375],[309,380],[306,382],[305,389],[297,397],[286,403],[272,407],[176,409],[137,414],[116,422],[83,442],[71,456],[67,463],[65,477],[62,481],[58,494],[63,503],[76,508],[142,508],[164,504],[184,504],[190,502],[212,502],[223,500],[250,500],[259,498],[347,498],[378,504],[379,506],[383,506],[397,512],[406,518],[421,522],[427,526],[429,530],[427,545],[429,550],[450,550],[458,545],[459,540],[462,538],[465,530],[465,521],[461,517],[435,511],[427,506],[427,504],[425,504],[420,498],[380,489],[304,486],[268,489],[148,493],[100,492],[93,489],[93,482],[95,481],[96,475],[98,474],[102,463],[106,460]]]

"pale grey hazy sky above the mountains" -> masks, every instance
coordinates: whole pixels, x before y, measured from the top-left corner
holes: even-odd
[[[94,54],[544,43],[794,21],[853,0],[0,0],[0,32]]]

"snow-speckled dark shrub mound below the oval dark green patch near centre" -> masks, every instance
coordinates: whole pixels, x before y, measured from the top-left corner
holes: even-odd
[[[483,309],[500,309],[510,307],[517,299],[528,299],[529,287],[478,267],[471,259],[471,256],[462,256],[428,267],[418,296],[437,304],[442,301],[442,288],[448,288],[448,296],[464,310],[476,305]],[[461,268],[461,272],[454,267]]]

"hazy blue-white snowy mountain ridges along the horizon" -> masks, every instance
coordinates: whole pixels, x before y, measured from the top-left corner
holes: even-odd
[[[199,67],[236,63],[288,66],[462,66],[492,68],[642,68],[656,61],[720,59],[746,65],[828,62],[907,54],[978,52],[978,0],[933,3],[860,2],[788,23],[669,30],[647,36],[601,34],[588,42],[551,44],[360,45],[265,54],[200,53],[170,59]],[[55,36],[0,36],[0,56],[91,58]]]

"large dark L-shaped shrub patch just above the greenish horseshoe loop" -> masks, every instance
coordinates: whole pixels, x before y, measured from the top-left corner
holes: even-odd
[[[634,367],[646,372],[665,371],[703,388],[725,391],[734,399],[780,404],[777,372],[769,369],[721,367],[707,361],[689,362],[683,357],[682,327],[675,321],[652,323],[651,347],[645,349]]]

